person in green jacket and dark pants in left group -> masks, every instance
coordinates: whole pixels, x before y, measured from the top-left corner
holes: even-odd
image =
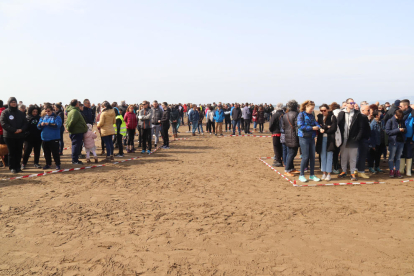
[[[80,113],[78,100],[75,99],[70,102],[67,112],[66,129],[69,131],[69,137],[72,140],[72,164],[82,165],[82,161],[79,161],[79,153],[83,145],[83,134],[88,131],[88,127]]]

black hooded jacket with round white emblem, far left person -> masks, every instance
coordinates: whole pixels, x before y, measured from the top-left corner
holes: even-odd
[[[3,128],[3,137],[22,139],[24,138],[28,126],[26,114],[21,112],[17,106],[11,107],[10,103],[13,101],[17,102],[15,97],[11,97],[7,101],[8,108],[3,110],[0,116],[0,124]],[[21,129],[22,132],[16,134],[15,132],[18,129]]]

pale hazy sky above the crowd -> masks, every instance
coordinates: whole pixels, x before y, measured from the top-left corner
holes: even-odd
[[[413,14],[413,0],[0,0],[0,99],[414,101]]]

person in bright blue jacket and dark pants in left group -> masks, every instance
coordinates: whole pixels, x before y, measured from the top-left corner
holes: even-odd
[[[56,170],[60,170],[59,141],[62,119],[53,112],[53,107],[47,105],[46,115],[40,118],[37,128],[42,131],[42,148],[45,154],[46,166],[44,170],[52,166],[52,156],[56,164]]]

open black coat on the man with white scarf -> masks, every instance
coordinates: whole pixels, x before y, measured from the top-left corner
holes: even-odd
[[[341,111],[338,114],[338,127],[341,131],[342,143],[344,143],[344,133],[345,133],[345,112]],[[363,136],[363,124],[361,119],[361,113],[355,110],[354,117],[352,118],[351,126],[349,128],[349,136],[346,143],[347,148],[356,148],[358,147],[359,140]],[[342,145],[341,145],[342,146]]]

